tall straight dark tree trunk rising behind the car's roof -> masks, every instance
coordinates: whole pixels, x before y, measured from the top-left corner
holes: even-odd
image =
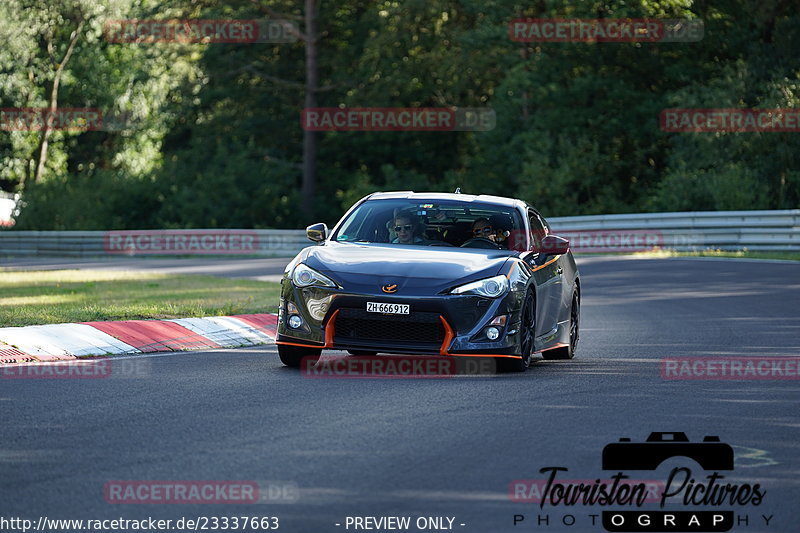
[[[317,71],[317,0],[305,0],[306,22],[306,87],[305,108],[317,107],[319,73]],[[303,216],[308,224],[314,222],[314,194],[317,181],[317,133],[303,131]]]

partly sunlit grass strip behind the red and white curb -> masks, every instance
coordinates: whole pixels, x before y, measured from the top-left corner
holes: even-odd
[[[274,313],[280,284],[109,270],[0,271],[0,327]]]

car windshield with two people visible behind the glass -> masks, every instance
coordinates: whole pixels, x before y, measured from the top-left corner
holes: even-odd
[[[519,212],[456,200],[367,200],[333,235],[338,242],[524,250]]]

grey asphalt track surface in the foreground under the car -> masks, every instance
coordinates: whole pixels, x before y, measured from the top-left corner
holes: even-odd
[[[682,431],[719,435],[736,453],[724,482],[766,490],[758,506],[720,507],[747,517],[733,531],[798,531],[800,381],[664,380],[659,361],[800,355],[800,264],[597,257],[579,267],[577,358],[525,374],[309,379],[264,346],[119,360],[106,379],[0,380],[0,516],[277,516],[287,532],[355,531],[347,516],[449,516],[456,531],[602,532],[590,518],[602,508],[514,502],[509,484],[543,479],[547,466],[569,469],[559,479],[608,478],[607,443]],[[673,463],[704,480],[679,459],[632,477],[664,480]],[[109,504],[110,480],[298,492],[264,504]]]

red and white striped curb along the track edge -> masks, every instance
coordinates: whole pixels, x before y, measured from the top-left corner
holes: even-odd
[[[253,314],[0,328],[0,365],[275,342],[278,316]]]

